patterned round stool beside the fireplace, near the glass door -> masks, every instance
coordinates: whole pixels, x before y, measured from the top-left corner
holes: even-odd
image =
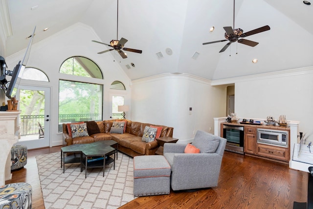
[[[24,167],[27,164],[27,147],[24,145],[15,145],[11,148],[11,170]]]

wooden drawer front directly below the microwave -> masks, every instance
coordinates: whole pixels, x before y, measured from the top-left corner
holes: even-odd
[[[289,161],[289,148],[279,147],[279,146],[272,146],[267,144],[257,144],[257,154],[260,156],[282,160],[282,161]]]

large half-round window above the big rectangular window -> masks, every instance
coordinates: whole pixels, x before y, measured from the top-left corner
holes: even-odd
[[[60,73],[103,79],[100,68],[86,57],[70,57],[64,61]]]

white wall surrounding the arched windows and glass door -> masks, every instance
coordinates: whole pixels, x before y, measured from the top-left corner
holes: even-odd
[[[36,38],[36,36],[34,38]],[[103,119],[109,119],[111,116],[112,104],[110,102],[110,95],[111,93],[116,93],[116,91],[110,90],[110,85],[114,80],[119,80],[124,83],[127,89],[123,91],[125,94],[125,104],[130,104],[130,79],[117,64],[117,61],[113,62],[113,52],[97,54],[97,52],[105,50],[106,48],[104,45],[102,46],[91,42],[91,40],[100,39],[91,27],[77,23],[60,31],[56,35],[34,44],[31,48],[26,67],[34,67],[43,70],[50,82],[24,81],[21,84],[47,86],[51,88],[50,146],[64,143],[62,134],[58,133],[58,105],[56,104],[58,104],[59,100],[59,79],[103,84]],[[24,53],[25,50],[22,50],[5,58],[9,70],[13,70],[18,61],[22,59]],[[72,56],[83,56],[94,61],[102,70],[104,80],[59,73],[62,63]],[[119,55],[115,54],[115,57],[119,57]],[[7,79],[9,80],[10,76],[7,76]]]

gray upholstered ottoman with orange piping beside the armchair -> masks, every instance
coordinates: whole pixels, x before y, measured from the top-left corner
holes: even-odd
[[[163,155],[134,157],[134,196],[169,194],[171,166]]]

